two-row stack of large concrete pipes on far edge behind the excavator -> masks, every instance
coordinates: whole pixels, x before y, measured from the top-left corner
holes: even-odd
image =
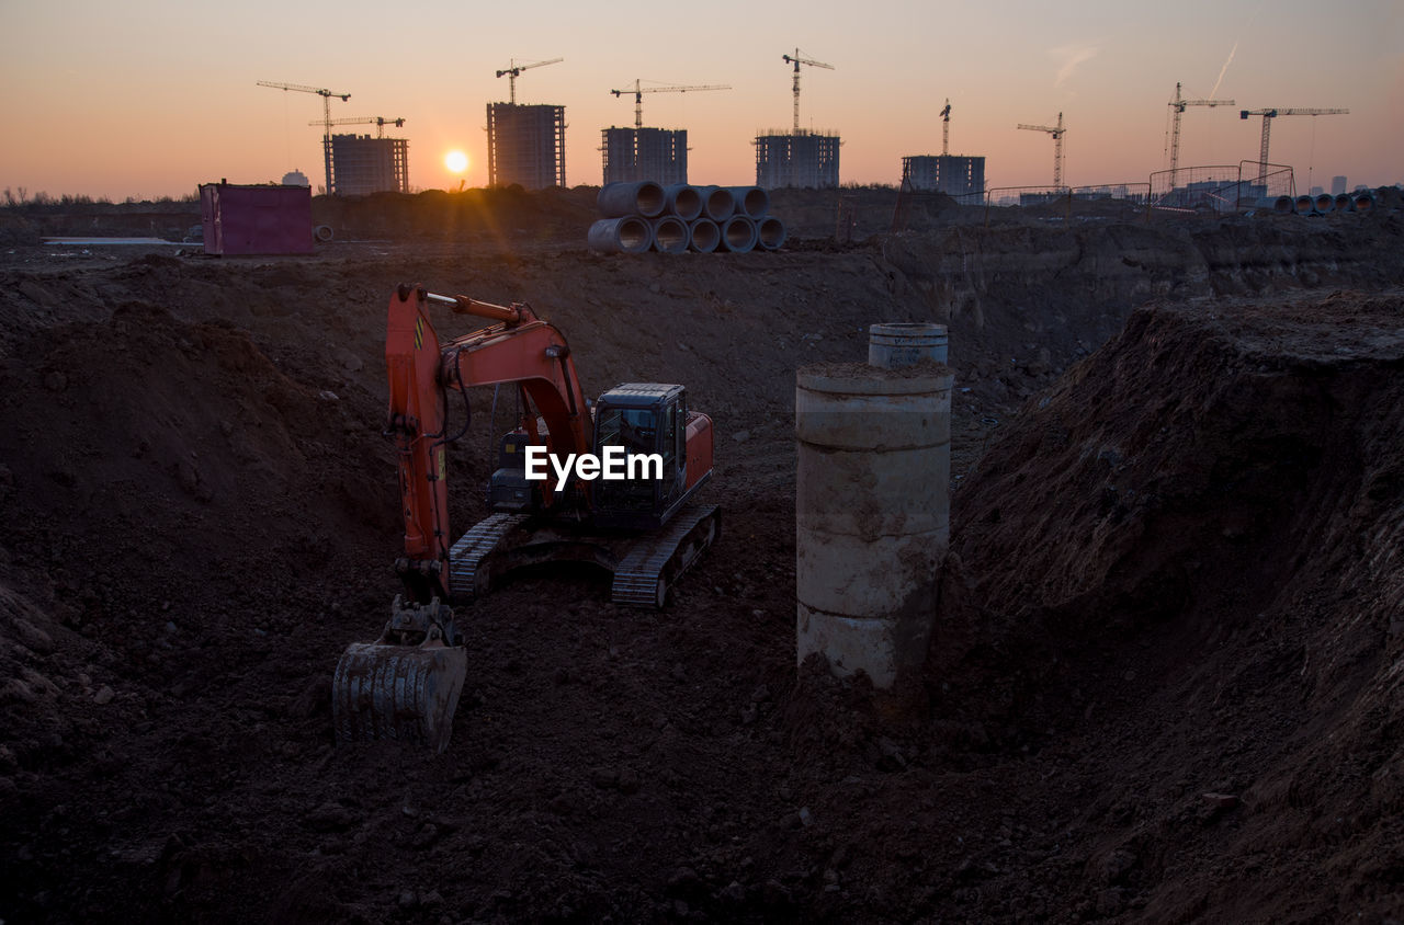
[[[785,246],[785,223],[769,215],[769,194],[760,187],[611,182],[600,189],[597,204],[604,218],[590,227],[588,241],[591,250],[605,254],[649,248],[664,254],[744,254]],[[642,246],[637,222],[649,229]]]

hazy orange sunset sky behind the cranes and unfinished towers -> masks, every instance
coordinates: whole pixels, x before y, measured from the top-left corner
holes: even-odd
[[[1019,122],[1068,126],[1064,180],[1144,181],[1167,166],[1168,107],[1189,109],[1181,166],[1257,159],[1261,119],[1240,108],[1345,107],[1279,118],[1271,159],[1297,187],[1334,174],[1404,181],[1404,4],[1275,0],[979,4],[869,0],[710,4],[545,0],[515,4],[241,4],[49,0],[0,6],[0,187],[124,199],[199,182],[323,181],[322,100],[258,80],[350,93],[333,115],[403,117],[414,188],[456,187],[444,154],[487,180],[484,105],[507,98],[510,59],[563,58],[518,79],[518,102],[566,107],[566,178],[601,181],[600,129],[633,125],[611,88],[730,84],[644,95],[644,125],[687,128],[694,182],[754,182],[758,129],[789,128],[796,46],[806,128],[844,138],[844,182],[896,182],[904,154],[939,153],[951,98],[952,153],[987,157],[990,185],[1052,182],[1053,143]],[[373,133],[372,126],[365,132]]]

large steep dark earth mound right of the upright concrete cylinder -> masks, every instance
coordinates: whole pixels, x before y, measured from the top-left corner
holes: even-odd
[[[956,497],[935,677],[1125,755],[1075,820],[1146,915],[1393,907],[1401,368],[1398,295],[1137,310]]]

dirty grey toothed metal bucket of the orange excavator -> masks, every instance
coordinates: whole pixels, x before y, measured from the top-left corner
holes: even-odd
[[[385,633],[352,643],[331,682],[338,743],[400,740],[441,752],[468,677],[468,653],[455,640],[452,611],[435,598],[404,606],[400,598]]]

